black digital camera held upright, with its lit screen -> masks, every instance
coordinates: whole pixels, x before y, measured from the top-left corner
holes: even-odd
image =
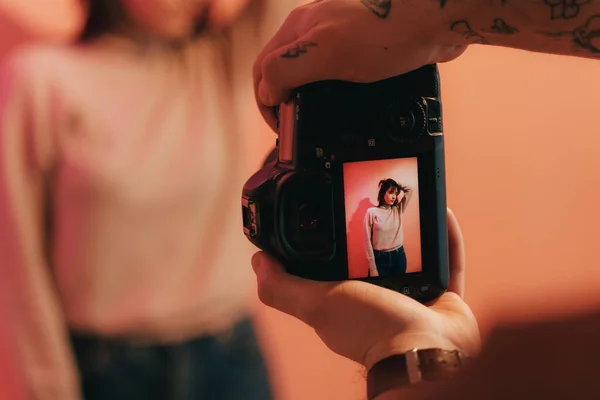
[[[320,81],[277,111],[272,157],[244,185],[243,230],[286,270],[417,301],[448,287],[437,65],[373,83]]]

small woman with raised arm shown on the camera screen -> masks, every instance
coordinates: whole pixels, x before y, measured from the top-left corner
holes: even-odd
[[[409,187],[393,179],[379,182],[377,207],[369,208],[364,220],[369,276],[392,277],[406,273],[402,222],[411,196]]]

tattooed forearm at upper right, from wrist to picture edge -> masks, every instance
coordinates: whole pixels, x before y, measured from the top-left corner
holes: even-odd
[[[451,44],[600,59],[598,0],[439,0]]]

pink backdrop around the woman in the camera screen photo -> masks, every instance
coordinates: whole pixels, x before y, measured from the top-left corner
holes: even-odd
[[[404,213],[404,249],[406,272],[421,271],[421,230],[419,226],[419,176],[416,158],[348,163],[344,165],[348,273],[350,278],[367,276],[369,264],[363,241],[364,218],[377,205],[379,181],[391,178],[413,189],[413,197]]]

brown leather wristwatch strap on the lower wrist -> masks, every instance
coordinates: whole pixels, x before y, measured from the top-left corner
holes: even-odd
[[[377,362],[367,373],[367,398],[418,382],[447,378],[462,370],[470,358],[459,350],[413,349]]]

